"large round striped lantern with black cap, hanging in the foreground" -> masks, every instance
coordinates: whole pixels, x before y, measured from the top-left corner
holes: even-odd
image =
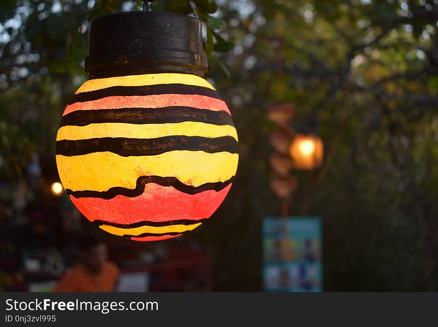
[[[168,12],[92,20],[90,74],[56,138],[61,182],[103,230],[172,238],[209,218],[237,169],[237,133],[203,76],[200,21]]]

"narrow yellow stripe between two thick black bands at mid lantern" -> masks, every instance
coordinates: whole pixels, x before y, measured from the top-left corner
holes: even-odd
[[[184,121],[165,124],[129,124],[104,122],[86,126],[62,126],[56,140],[81,140],[95,137],[155,138],[171,135],[220,137],[232,136],[237,132],[230,125],[213,125],[205,122]]]

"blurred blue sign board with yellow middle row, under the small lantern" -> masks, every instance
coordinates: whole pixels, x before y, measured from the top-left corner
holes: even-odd
[[[264,218],[262,237],[265,291],[323,291],[320,218]]]

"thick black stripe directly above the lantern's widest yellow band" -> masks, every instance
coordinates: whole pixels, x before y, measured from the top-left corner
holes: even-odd
[[[101,137],[56,142],[56,154],[64,156],[79,156],[105,151],[123,157],[153,156],[176,150],[237,153],[237,149],[237,141],[232,136],[213,138],[186,135],[157,138]]]

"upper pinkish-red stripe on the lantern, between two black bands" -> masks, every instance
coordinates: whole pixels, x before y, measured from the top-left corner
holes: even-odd
[[[76,102],[72,105],[68,105],[62,115],[65,116],[67,113],[76,110],[162,108],[172,106],[193,107],[213,111],[224,110],[230,113],[225,102],[220,99],[192,94],[163,94],[129,97],[112,96],[94,101]]]

